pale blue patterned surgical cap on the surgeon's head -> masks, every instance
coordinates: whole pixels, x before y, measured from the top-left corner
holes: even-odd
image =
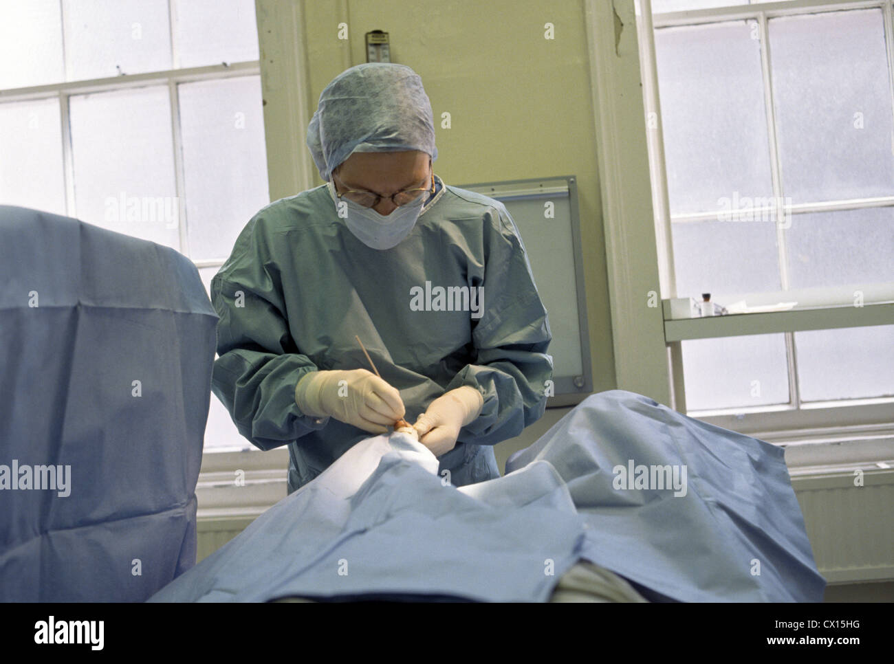
[[[419,150],[437,159],[422,79],[404,64],[365,63],[342,71],[320,95],[308,147],[325,181],[354,152]]]

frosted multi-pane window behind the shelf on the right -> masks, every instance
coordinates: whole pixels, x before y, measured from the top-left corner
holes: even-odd
[[[670,297],[862,307],[870,292],[890,295],[890,0],[651,6]],[[689,415],[830,406],[878,414],[894,401],[891,324],[681,346]]]

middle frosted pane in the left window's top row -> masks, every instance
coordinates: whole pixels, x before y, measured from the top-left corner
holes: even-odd
[[[167,0],[69,0],[64,20],[70,80],[171,69]]]

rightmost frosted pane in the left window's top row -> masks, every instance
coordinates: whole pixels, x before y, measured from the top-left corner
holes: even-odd
[[[254,0],[174,0],[181,67],[257,60]]]

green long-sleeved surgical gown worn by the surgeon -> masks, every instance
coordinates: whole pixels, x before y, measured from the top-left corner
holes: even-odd
[[[445,391],[481,392],[481,414],[438,458],[456,486],[499,476],[493,445],[544,413],[552,334],[519,231],[499,201],[436,181],[409,236],[385,251],[354,237],[328,185],[277,200],[211,282],[212,391],[258,448],[289,445],[290,493],[373,435],[295,403],[309,371],[370,368],[355,334],[410,423]],[[476,310],[462,287],[483,287]]]

